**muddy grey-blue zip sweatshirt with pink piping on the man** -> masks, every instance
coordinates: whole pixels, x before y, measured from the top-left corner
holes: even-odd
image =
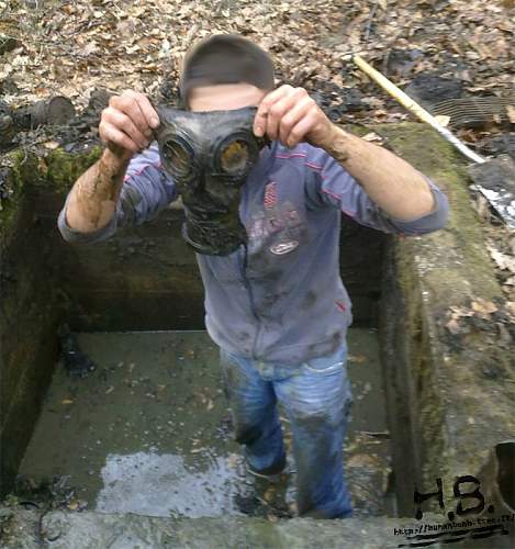
[[[229,352],[284,365],[333,354],[352,321],[339,271],[342,212],[385,233],[430,233],[446,224],[448,201],[426,180],[434,211],[403,222],[385,215],[325,150],[306,143],[265,147],[242,188],[247,246],[224,257],[197,254],[211,338]],[[58,227],[67,242],[96,243],[155,217],[177,198],[153,143],[131,160],[109,225],[74,231],[66,222],[67,199]]]

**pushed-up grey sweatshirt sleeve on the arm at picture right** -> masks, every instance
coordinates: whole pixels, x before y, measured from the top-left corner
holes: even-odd
[[[422,173],[435,198],[435,208],[429,214],[416,220],[401,221],[383,212],[356,179],[325,150],[312,147],[309,158],[306,198],[312,208],[333,205],[361,225],[402,235],[432,233],[443,228],[447,223],[449,211],[447,197],[433,180]]]

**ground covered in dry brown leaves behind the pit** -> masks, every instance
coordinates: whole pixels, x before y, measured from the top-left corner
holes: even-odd
[[[436,75],[462,96],[515,96],[515,0],[0,0],[0,97],[16,107],[63,94],[85,107],[94,88],[173,93],[187,48],[219,32],[268,49],[277,83],[305,87],[342,123],[411,117],[355,66],[356,53],[401,87]],[[495,122],[458,133],[483,154],[515,157],[513,108],[508,125]],[[514,232],[479,211],[515,302]]]

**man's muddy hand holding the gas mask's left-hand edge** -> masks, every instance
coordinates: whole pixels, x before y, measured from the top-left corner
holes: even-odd
[[[99,124],[100,139],[121,160],[130,160],[135,153],[148,147],[159,117],[144,93],[124,91],[112,96],[102,111]]]

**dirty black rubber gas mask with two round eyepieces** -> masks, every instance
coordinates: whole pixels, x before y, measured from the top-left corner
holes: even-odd
[[[182,197],[182,237],[199,254],[226,256],[247,243],[240,189],[268,139],[253,133],[255,107],[191,112],[158,105],[163,167]]]

